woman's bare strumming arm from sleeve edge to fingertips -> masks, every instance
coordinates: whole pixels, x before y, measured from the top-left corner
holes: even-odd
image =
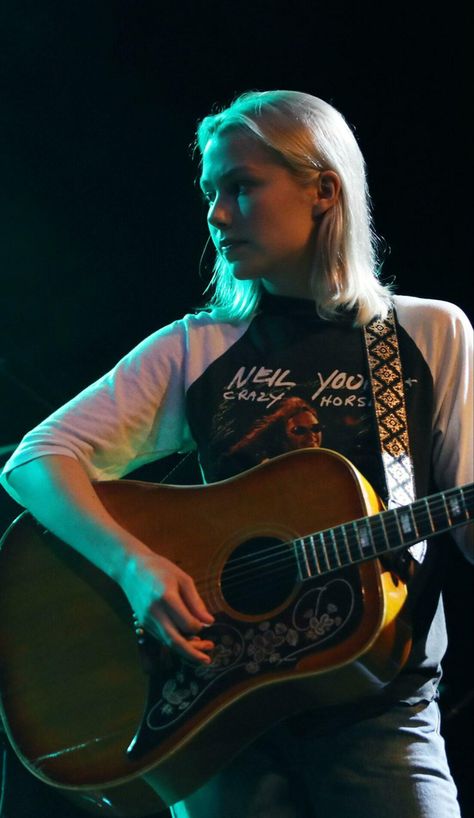
[[[30,460],[10,472],[7,485],[46,528],[120,585],[153,636],[185,658],[210,661],[212,642],[196,634],[213,618],[193,580],[115,522],[75,458]]]

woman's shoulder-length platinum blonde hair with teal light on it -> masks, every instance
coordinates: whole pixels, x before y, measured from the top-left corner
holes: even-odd
[[[385,317],[390,288],[378,278],[377,237],[372,229],[365,162],[343,116],[324,100],[298,91],[249,91],[198,125],[197,147],[227,129],[240,129],[263,142],[302,183],[318,172],[341,180],[337,203],[321,217],[315,244],[311,290],[317,312],[335,318],[354,309],[355,323]],[[208,307],[216,317],[249,317],[258,307],[260,281],[238,281],[217,254]]]

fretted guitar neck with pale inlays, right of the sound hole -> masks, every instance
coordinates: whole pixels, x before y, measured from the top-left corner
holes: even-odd
[[[474,517],[474,484],[362,517],[293,542],[302,580],[408,548]]]

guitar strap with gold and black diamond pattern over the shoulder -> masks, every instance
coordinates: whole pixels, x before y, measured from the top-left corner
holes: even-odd
[[[389,310],[385,320],[376,318],[364,327],[364,337],[388,507],[394,508],[413,503],[415,481],[393,309]],[[416,543],[408,550],[421,563],[425,557],[426,543]]]

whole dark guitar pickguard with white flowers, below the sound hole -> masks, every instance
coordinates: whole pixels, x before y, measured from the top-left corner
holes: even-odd
[[[221,612],[206,630],[215,643],[210,665],[169,655],[171,666],[151,674],[146,712],[128,752],[134,757],[159,744],[171,731],[219,694],[245,680],[264,685],[304,656],[345,639],[362,615],[357,571],[339,572],[324,582],[305,583],[300,596],[275,617],[258,622]]]

